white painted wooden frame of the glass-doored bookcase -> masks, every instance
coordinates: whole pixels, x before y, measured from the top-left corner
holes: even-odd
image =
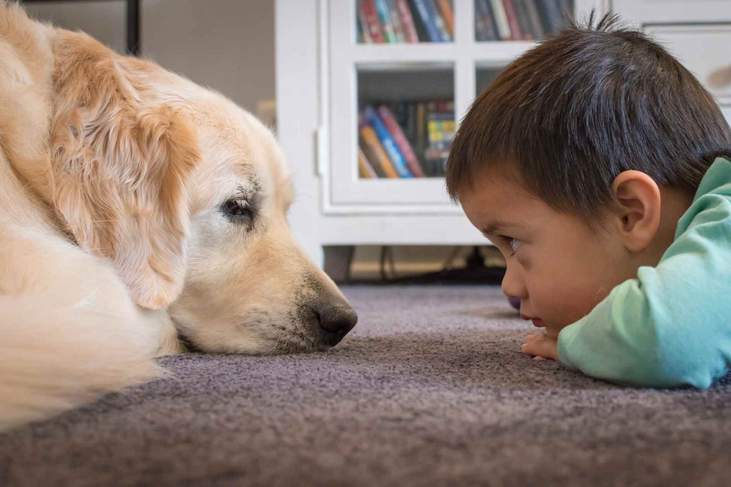
[[[461,119],[491,78],[534,42],[477,42],[474,0],[453,0],[454,40],[359,44],[356,0],[276,0],[279,140],[292,169],[295,238],[325,245],[484,245],[443,178],[360,179],[359,96],[443,96]],[[575,15],[608,0],[576,0]],[[359,83],[360,81],[360,83]]]

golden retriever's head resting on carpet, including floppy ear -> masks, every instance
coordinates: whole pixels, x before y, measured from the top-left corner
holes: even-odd
[[[223,96],[59,31],[53,204],[141,307],[204,351],[336,345],[357,316],[287,226],[292,183],[268,129]]]

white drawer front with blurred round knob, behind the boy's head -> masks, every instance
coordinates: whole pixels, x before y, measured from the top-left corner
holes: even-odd
[[[645,31],[695,74],[719,104],[731,106],[731,24],[648,25]]]

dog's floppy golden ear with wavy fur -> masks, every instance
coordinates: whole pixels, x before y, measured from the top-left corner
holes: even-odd
[[[185,277],[197,140],[173,107],[143,104],[116,62],[89,68],[67,72],[60,90],[54,205],[81,248],[113,262],[137,304],[164,307]]]

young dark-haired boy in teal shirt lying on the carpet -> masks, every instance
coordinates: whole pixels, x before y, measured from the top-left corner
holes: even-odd
[[[645,35],[572,26],[474,102],[447,189],[545,333],[523,352],[639,386],[705,388],[731,364],[731,131]]]

